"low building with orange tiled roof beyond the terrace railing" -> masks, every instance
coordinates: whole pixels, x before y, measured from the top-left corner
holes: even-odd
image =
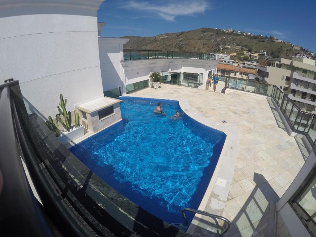
[[[239,68],[233,65],[227,64],[218,64],[217,65],[217,73],[220,77],[232,77],[239,79],[249,79],[249,76],[254,76],[256,70],[247,69],[247,68]]]

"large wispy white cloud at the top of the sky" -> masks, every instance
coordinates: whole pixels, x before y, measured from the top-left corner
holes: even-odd
[[[121,8],[143,11],[147,14],[150,13],[149,15],[153,17],[159,16],[166,21],[174,21],[177,16],[194,16],[195,14],[203,13],[208,8],[208,4],[205,0],[196,0],[194,2],[172,0],[162,3],[159,1],[159,4],[129,1]]]

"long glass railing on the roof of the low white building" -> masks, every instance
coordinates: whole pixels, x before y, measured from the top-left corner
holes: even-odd
[[[177,52],[164,50],[123,50],[124,61],[140,59],[161,59],[161,58],[193,58],[216,60],[216,56],[210,53]]]

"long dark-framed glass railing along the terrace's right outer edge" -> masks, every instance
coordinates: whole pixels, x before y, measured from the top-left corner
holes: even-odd
[[[283,94],[283,92],[275,85],[250,80],[227,78],[225,87],[271,96],[280,108],[280,111],[291,130],[304,134],[311,146],[315,146],[316,115],[307,112],[308,108],[296,105],[293,100],[289,99],[288,95]]]

